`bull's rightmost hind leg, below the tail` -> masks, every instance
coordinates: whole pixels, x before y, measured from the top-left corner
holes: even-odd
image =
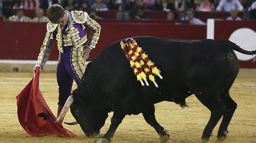
[[[233,117],[235,109],[237,109],[237,103],[232,100],[228,91],[224,91],[224,93],[221,95],[221,100],[226,105],[227,111],[224,113],[221,125],[219,126],[217,135],[218,141],[223,141],[227,137],[227,127],[229,126],[229,122]]]

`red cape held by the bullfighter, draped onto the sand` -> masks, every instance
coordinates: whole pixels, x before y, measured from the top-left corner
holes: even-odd
[[[76,137],[76,134],[66,130],[62,125],[54,123],[56,117],[50,111],[39,89],[39,68],[36,68],[33,79],[16,96],[19,123],[31,136]]]

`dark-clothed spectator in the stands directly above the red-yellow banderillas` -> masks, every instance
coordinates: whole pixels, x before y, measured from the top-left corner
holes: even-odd
[[[132,7],[132,9],[129,12],[129,16],[132,19],[142,19],[147,18],[146,15],[144,15],[142,10],[148,9],[147,5],[143,2],[143,0],[136,0],[135,5]]]

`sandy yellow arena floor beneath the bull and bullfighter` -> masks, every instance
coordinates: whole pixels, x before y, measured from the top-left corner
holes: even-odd
[[[0,142],[83,142],[94,143],[97,139],[85,137],[79,125],[65,128],[78,135],[76,138],[69,137],[31,137],[20,126],[17,118],[16,95],[31,80],[32,73],[0,72]],[[73,88],[76,88],[74,85]],[[43,92],[53,113],[57,112],[58,85],[55,73],[42,72],[40,75],[40,89]],[[256,142],[256,78],[236,79],[231,88],[231,97],[238,104],[233,119],[229,124],[229,134],[225,143],[250,143]],[[206,126],[210,112],[200,103],[194,95],[188,97],[186,102],[189,107],[181,109],[173,102],[161,102],[155,105],[158,122],[169,131],[171,139],[168,142],[196,143]],[[110,125],[112,113],[101,129],[105,134]],[[68,112],[66,122],[74,121]],[[213,130],[210,143],[216,141],[219,123]],[[152,143],[159,142],[159,136],[142,116],[126,116],[122,124],[116,130],[112,143]]]

